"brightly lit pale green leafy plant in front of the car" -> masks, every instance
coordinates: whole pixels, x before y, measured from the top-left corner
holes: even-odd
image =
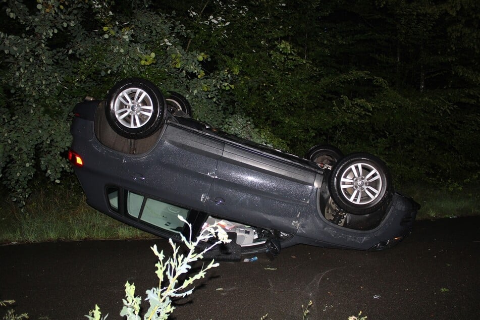
[[[192,240],[192,226],[182,217],[178,216],[182,222],[188,225],[190,229],[190,236],[186,239],[181,235],[182,242],[187,246],[188,252],[184,255],[179,252],[180,247],[177,246],[172,239],[169,240],[172,246],[172,255],[165,260],[163,250],[158,252],[156,245],[151,247],[153,253],[158,257],[158,262],[155,264],[158,277],[158,287],[153,287],[146,291],[147,298],[150,303],[150,307],[144,315],[144,319],[148,320],[166,320],[168,316],[175,309],[172,306],[172,299],[183,298],[193,292],[194,288],[187,290],[187,288],[195,281],[205,277],[206,271],[218,266],[218,263],[214,263],[211,260],[208,265],[203,265],[198,273],[195,275],[181,280],[183,275],[186,275],[191,269],[191,263],[202,259],[205,252],[212,249],[220,243],[227,243],[231,240],[228,239],[228,235],[218,223],[208,226],[202,230],[196,240]],[[196,253],[195,247],[200,241],[208,241],[209,239],[216,237],[217,241],[207,246],[203,251]],[[135,296],[135,285],[125,284],[125,299],[123,299],[123,308],[120,312],[121,316],[127,316],[127,320],[140,320],[140,302],[141,297]],[[95,305],[95,310],[91,310],[88,315],[85,315],[89,320],[104,320],[108,316],[101,317],[100,308]]]

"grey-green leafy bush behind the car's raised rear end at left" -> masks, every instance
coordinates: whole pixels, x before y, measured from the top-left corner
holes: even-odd
[[[220,91],[233,87],[229,73],[205,74],[202,61],[208,55],[183,48],[181,39],[189,33],[174,16],[149,10],[143,1],[132,2],[135,10],[128,14],[113,5],[6,4],[9,26],[3,24],[0,32],[0,177],[20,204],[35,175],[58,183],[71,172],[65,151],[73,106],[85,95],[103,98],[119,79],[141,76],[163,90],[175,89],[196,106],[198,118],[223,123]]]

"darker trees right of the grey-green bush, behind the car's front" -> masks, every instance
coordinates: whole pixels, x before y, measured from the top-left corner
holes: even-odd
[[[211,48],[235,76],[237,112],[286,149],[368,151],[396,180],[462,185],[480,172],[476,2],[266,0],[241,19],[191,6],[230,22],[221,40],[198,32],[191,46]]]

